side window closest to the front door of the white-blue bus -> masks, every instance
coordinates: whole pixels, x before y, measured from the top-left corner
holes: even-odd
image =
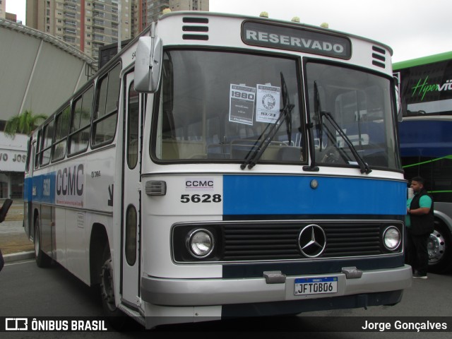
[[[117,64],[97,85],[93,117],[93,145],[113,141],[116,132],[121,64]]]

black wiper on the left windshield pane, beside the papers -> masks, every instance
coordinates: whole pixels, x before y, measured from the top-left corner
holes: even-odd
[[[287,85],[284,80],[283,73],[281,72],[281,94],[283,95],[283,109],[280,109],[280,116],[275,121],[275,124],[272,124],[270,131],[265,138],[262,139],[261,143],[256,148],[256,143],[254,143],[253,148],[249,151],[249,153],[245,157],[245,161],[242,165],[240,165],[241,169],[245,169],[248,166],[248,169],[256,166],[259,159],[267,149],[268,145],[270,145],[271,141],[275,137],[276,133],[278,133],[280,126],[283,124],[283,121],[286,121],[287,125],[287,138],[289,138],[289,144],[292,141],[292,109],[294,109],[295,105],[290,103],[289,95],[287,94]],[[264,132],[268,129],[267,125]],[[261,134],[262,135],[262,134]]]

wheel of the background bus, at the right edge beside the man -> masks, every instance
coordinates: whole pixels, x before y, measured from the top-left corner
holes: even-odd
[[[429,272],[446,273],[452,268],[451,232],[439,220],[435,220],[434,231],[430,234],[427,249],[429,251]]]

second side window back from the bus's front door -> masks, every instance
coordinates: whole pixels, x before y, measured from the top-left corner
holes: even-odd
[[[69,135],[69,154],[81,153],[88,148],[90,141],[91,109],[93,107],[94,88],[78,97],[73,103],[71,133]]]

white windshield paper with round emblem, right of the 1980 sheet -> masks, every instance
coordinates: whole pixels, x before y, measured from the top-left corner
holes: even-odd
[[[280,117],[281,88],[257,85],[256,121],[275,124]]]

